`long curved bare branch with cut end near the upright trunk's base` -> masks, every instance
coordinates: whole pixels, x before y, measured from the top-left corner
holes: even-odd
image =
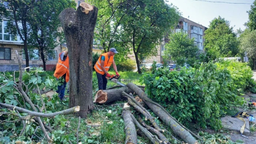
[[[30,110],[27,110],[27,109],[23,109],[21,107],[8,105],[8,104],[5,104],[5,103],[0,103],[0,106],[7,107],[9,109],[14,109],[15,108],[19,112],[29,114],[31,117],[54,117],[55,115],[58,115],[58,114],[71,114],[71,113],[78,112],[80,110],[80,106],[75,106],[75,107],[72,107],[70,109],[66,109],[66,110],[62,110],[62,111],[56,111],[54,113],[38,113],[38,112],[35,112],[35,111],[30,111]]]

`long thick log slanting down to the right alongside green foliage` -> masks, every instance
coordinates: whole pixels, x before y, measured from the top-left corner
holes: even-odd
[[[189,143],[189,144],[198,144],[198,141],[186,129],[184,129],[175,120],[173,120],[164,110],[162,110],[161,107],[149,102],[151,99],[148,98],[147,95],[142,90],[140,90],[139,87],[137,87],[133,83],[128,83],[127,87],[129,87],[129,88],[131,88],[131,90],[135,91],[136,94],[143,100],[143,102],[145,102],[146,105],[148,107],[150,107],[150,109],[153,110],[153,112],[156,115],[158,115],[158,117],[163,122],[165,122],[165,124],[170,126],[170,128],[173,130],[173,132],[175,134],[177,134],[179,137],[181,137],[182,140],[184,140],[186,143]]]

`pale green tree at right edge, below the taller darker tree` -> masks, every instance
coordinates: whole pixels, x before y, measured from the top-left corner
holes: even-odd
[[[241,50],[247,52],[247,56],[253,60],[253,69],[256,69],[256,30],[245,29],[240,41]]]

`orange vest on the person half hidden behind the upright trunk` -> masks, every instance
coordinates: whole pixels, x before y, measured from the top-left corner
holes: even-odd
[[[65,52],[65,51],[63,51],[63,52]],[[59,79],[61,76],[63,76],[65,73],[67,73],[66,74],[66,82],[68,82],[69,81],[69,64],[68,64],[69,59],[68,59],[68,56],[67,56],[65,61],[61,61],[60,54],[59,54],[59,61],[56,65],[56,70],[55,70],[53,75],[57,79]]]

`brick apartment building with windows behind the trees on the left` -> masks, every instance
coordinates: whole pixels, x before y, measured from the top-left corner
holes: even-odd
[[[75,0],[77,7],[84,0]],[[87,1],[87,0],[86,0]],[[22,67],[26,67],[25,53],[23,51],[24,45],[19,35],[10,35],[7,33],[7,21],[8,19],[0,17],[0,71],[16,71],[19,69],[18,60],[16,58],[15,50],[18,51],[22,58]],[[67,45],[60,44],[54,49],[54,54],[48,55],[48,61],[46,62],[46,70],[54,70],[59,58],[59,53],[67,49]],[[102,49],[98,46],[93,46],[93,52],[101,53]],[[43,67],[38,49],[29,51],[29,66],[30,67]]]

